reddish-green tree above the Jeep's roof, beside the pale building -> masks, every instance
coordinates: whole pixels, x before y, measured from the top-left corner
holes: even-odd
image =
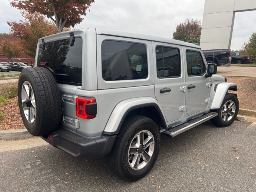
[[[190,43],[200,43],[201,22],[198,19],[186,19],[176,27],[173,32],[173,39]]]

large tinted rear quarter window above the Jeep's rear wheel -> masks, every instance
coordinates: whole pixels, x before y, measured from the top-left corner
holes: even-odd
[[[104,41],[101,52],[104,80],[133,80],[148,77],[147,49],[144,44]]]

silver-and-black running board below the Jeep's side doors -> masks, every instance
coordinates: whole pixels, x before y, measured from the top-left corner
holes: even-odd
[[[218,113],[216,113],[216,112],[210,112],[210,113],[202,115],[198,118],[192,119],[184,124],[176,126],[172,129],[169,129],[163,133],[168,134],[171,137],[175,137],[187,130],[190,130],[193,127],[196,127],[196,126],[202,124],[203,122],[206,122],[206,121],[216,117],[217,115],[218,115]]]

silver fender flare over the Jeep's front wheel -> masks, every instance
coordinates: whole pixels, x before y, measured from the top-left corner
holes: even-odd
[[[214,95],[214,99],[212,101],[211,109],[219,109],[222,101],[224,100],[228,90],[237,91],[237,85],[235,83],[220,83],[217,85]]]

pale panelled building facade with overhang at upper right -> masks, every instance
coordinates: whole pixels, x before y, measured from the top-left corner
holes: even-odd
[[[230,49],[236,12],[256,10],[256,0],[205,0],[202,50]]]

